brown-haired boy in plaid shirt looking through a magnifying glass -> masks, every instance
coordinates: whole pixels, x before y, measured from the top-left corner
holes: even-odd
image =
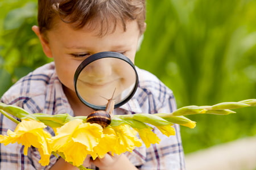
[[[51,0],[38,1],[38,23],[32,30],[39,37],[47,57],[54,62],[39,67],[20,79],[1,101],[18,105],[31,113],[87,116],[92,109],[78,99],[73,76],[88,56],[104,51],[122,53],[134,62],[139,37],[146,24],[144,0]],[[101,73],[105,67],[99,67]],[[171,90],[154,75],[138,69],[139,86],[133,98],[115,109],[117,114],[168,113],[175,109]],[[104,74],[103,74],[104,75]],[[1,114],[1,134],[14,130],[16,124]],[[176,135],[161,138],[158,145],[135,148],[133,152],[102,159],[86,158],[85,167],[93,169],[184,169],[179,126]],[[48,129],[53,134],[51,129]],[[74,153],[76,154],[76,153]],[[39,152],[31,147],[23,155],[18,144],[1,145],[0,169],[77,169],[63,159],[51,156],[51,163],[42,167]]]

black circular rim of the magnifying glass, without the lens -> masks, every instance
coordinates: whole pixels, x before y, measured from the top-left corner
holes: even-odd
[[[135,92],[137,90],[137,87],[138,87],[138,74],[137,74],[137,71],[135,69],[135,66],[134,66],[133,62],[131,62],[131,60],[129,58],[127,58],[126,56],[124,56],[123,54],[120,54],[120,53],[116,53],[116,52],[100,52],[100,53],[93,54],[92,56],[90,56],[90,57],[86,58],[84,61],[82,61],[81,64],[79,65],[79,67],[77,67],[76,73],[74,75],[74,85],[75,85],[76,95],[79,97],[79,99],[82,101],[82,103],[84,103],[85,105],[87,105],[88,107],[90,107],[90,108],[92,108],[94,110],[105,110],[106,109],[106,106],[90,104],[86,100],[84,100],[80,96],[79,92],[77,91],[77,86],[76,86],[77,79],[79,78],[79,75],[80,75],[81,71],[84,69],[84,67],[86,67],[90,63],[96,61],[97,59],[101,59],[101,58],[118,58],[118,59],[122,59],[123,61],[129,63],[129,65],[135,71],[136,81],[135,81],[135,84],[134,84],[133,91],[131,91],[130,95],[128,95],[126,97],[126,99],[124,99],[121,102],[119,102],[119,103],[114,105],[114,108],[121,107],[121,105],[127,103],[127,101],[129,101],[131,99],[131,97],[133,97],[133,95],[135,94]]]

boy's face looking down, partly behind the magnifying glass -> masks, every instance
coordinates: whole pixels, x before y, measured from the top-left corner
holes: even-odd
[[[72,92],[75,92],[73,76],[77,67],[85,58],[95,53],[112,51],[122,53],[134,62],[140,36],[136,21],[127,22],[125,32],[123,31],[122,25],[117,24],[113,33],[112,29],[110,29],[110,33],[103,37],[98,36],[99,30],[97,28],[96,30],[92,30],[84,27],[75,30],[60,20],[55,24],[55,28],[47,31],[47,41],[40,35],[38,27],[33,27],[32,29],[39,36],[46,56],[54,59],[57,75],[61,83],[67,87],[68,91]],[[122,86],[122,83],[124,83],[122,82],[122,78],[127,78],[130,73],[123,71],[122,66],[111,64],[111,62],[108,63],[108,66],[100,65],[101,62],[97,63],[98,66],[95,66],[96,69],[90,73],[97,75],[94,76],[94,80],[91,79],[90,88],[99,89],[98,86],[102,86],[97,93],[106,94],[106,91],[109,91],[110,94],[106,96],[109,97],[113,93],[113,86],[117,86],[117,84],[118,86]],[[99,73],[101,74],[99,75]],[[102,84],[99,84],[99,78]],[[95,88],[92,87],[94,82],[96,84]],[[108,86],[105,86],[105,84],[108,84]],[[75,93],[73,94],[75,95]],[[93,97],[93,95],[90,97]]]

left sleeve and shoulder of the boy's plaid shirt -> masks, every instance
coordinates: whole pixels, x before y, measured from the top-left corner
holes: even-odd
[[[47,65],[47,68],[51,65]],[[5,104],[16,105],[25,109],[29,113],[40,113],[44,108],[46,97],[44,97],[44,89],[50,78],[46,75],[47,68],[42,68],[44,74],[29,74],[16,82],[1,97],[1,102]],[[50,79],[49,79],[50,80]],[[32,96],[32,97],[31,97]],[[17,118],[18,119],[18,118]],[[7,135],[7,131],[14,131],[16,123],[9,120],[0,113],[0,133]],[[50,132],[50,131],[49,131]],[[56,162],[55,156],[51,156],[50,163],[46,167],[39,164],[40,154],[35,147],[29,147],[28,152],[24,153],[24,146],[19,143],[3,145],[0,143],[0,169],[26,169],[26,170],[43,170],[51,168]]]

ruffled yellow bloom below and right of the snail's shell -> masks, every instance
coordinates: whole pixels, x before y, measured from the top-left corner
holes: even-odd
[[[122,154],[126,151],[133,151],[135,147],[142,146],[142,141],[136,137],[137,131],[129,125],[119,125],[104,129],[104,133],[114,135],[115,143],[109,146],[112,154]]]

